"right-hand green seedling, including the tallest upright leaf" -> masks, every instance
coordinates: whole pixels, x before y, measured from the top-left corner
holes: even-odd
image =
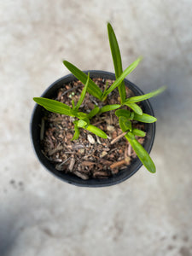
[[[108,23],[108,38],[109,38],[109,44],[111,48],[111,53],[113,57],[113,66],[115,70],[115,76],[116,79],[118,79],[122,73],[122,61],[119,51],[119,45],[117,42],[117,38],[115,36],[115,33],[113,31],[113,27]],[[135,67],[137,67],[138,63],[141,61],[141,58],[137,59],[137,61],[133,62],[131,64],[130,70],[132,71]],[[112,84],[113,88],[113,84]],[[125,83],[121,83],[118,86],[119,89],[119,96],[120,96],[120,103],[124,106],[127,106],[133,110],[131,113],[129,110],[125,109],[119,109],[115,112],[115,114],[119,117],[119,126],[122,131],[127,131],[125,134],[125,138],[129,141],[131,144],[131,147],[136,152],[138,158],[142,161],[143,166],[145,166],[149,172],[156,172],[154,162],[150,158],[148,152],[143,148],[143,146],[137,142],[137,139],[135,136],[143,137],[145,136],[145,133],[143,131],[132,129],[131,127],[131,120],[137,120],[145,123],[153,123],[156,121],[156,119],[153,116],[150,116],[146,113],[143,113],[142,108],[140,108],[136,102],[141,102],[144,100],[147,100],[150,97],[157,96],[160,94],[163,90],[165,90],[165,87],[160,88],[159,90],[155,90],[154,92],[148,93],[143,96],[133,96],[126,99],[126,92],[125,92]]]

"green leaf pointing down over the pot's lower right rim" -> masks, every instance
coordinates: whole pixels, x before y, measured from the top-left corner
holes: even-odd
[[[143,148],[143,146],[137,142],[136,138],[133,138],[134,135],[131,132],[128,132],[125,135],[125,138],[131,143],[131,147],[136,152],[138,158],[142,161],[143,166],[145,166],[149,172],[156,172],[153,160],[150,158],[148,152]]]

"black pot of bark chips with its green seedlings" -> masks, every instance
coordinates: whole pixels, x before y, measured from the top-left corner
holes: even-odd
[[[148,98],[165,87],[143,95],[125,79],[142,58],[123,72],[109,23],[108,38],[115,74],[82,72],[63,61],[71,74],[33,98],[38,104],[32,113],[31,135],[38,159],[56,177],[79,186],[120,183],[142,165],[155,172],[149,152],[156,118]]]

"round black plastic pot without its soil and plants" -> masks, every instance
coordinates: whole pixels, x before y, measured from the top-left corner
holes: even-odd
[[[108,73],[104,71],[89,71],[90,78],[102,78],[102,79],[115,79],[115,75],[113,73]],[[88,73],[84,72],[84,73]],[[53,84],[49,86],[47,90],[44,91],[43,95],[46,98],[52,98],[56,96],[57,90],[63,85],[67,84],[75,79],[73,74],[69,74],[61,79],[56,80]],[[140,90],[135,84],[132,84],[130,81],[125,79],[125,85],[128,86],[136,96],[143,95],[143,91]],[[154,111],[148,102],[148,100],[141,102],[143,105],[143,112],[154,115]],[[88,180],[83,180],[80,177],[74,176],[70,173],[60,172],[55,169],[55,166],[49,162],[49,160],[44,156],[41,151],[40,146],[40,124],[41,119],[44,116],[43,107],[40,107],[38,104],[35,105],[35,108],[32,113],[31,119],[31,137],[32,137],[32,144],[34,150],[38,156],[38,160],[41,164],[52,174],[56,177],[61,178],[61,180],[71,183],[73,185],[78,185],[82,187],[105,187],[111,186],[117,183],[121,183],[125,181],[127,178],[131,177],[134,173],[138,171],[138,169],[143,166],[142,162],[136,158],[131,162],[130,166],[127,166],[126,169],[120,171],[118,174],[114,175],[113,177],[108,177],[106,179],[96,179],[90,178]],[[151,151],[151,148],[154,143],[154,134],[155,134],[155,124],[146,124],[146,132],[147,136],[145,139],[145,143],[143,147],[148,151],[148,154]]]

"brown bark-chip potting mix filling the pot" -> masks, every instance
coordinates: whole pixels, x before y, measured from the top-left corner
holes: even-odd
[[[113,80],[93,80],[102,90],[107,81],[108,86],[113,84]],[[83,86],[80,81],[63,84],[54,99],[72,107],[72,100],[75,103],[78,102]],[[127,97],[133,96],[128,88],[126,88],[126,94]],[[103,107],[106,104],[117,104],[118,102],[119,91],[117,89],[108,95],[105,102],[100,102],[86,93],[79,111],[89,113],[95,105]],[[55,164],[57,170],[71,172],[82,179],[108,178],[117,174],[119,170],[129,166],[131,160],[136,158],[137,155],[123,136],[123,132],[119,128],[118,118],[114,112],[115,110],[102,113],[90,120],[91,125],[96,125],[107,133],[108,139],[97,137],[90,131],[79,128],[79,139],[72,141],[74,134],[73,120],[76,118],[44,110],[44,118],[41,124],[42,152]],[[132,125],[145,131],[143,123],[133,121]],[[144,143],[143,137],[137,137],[137,140],[141,144]]]

